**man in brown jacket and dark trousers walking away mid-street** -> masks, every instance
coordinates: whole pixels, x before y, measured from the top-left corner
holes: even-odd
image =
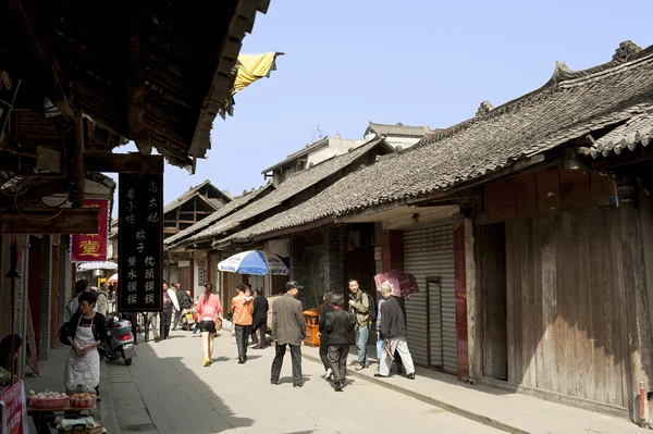
[[[275,344],[270,383],[278,384],[286,345],[291,347],[293,386],[301,387],[301,340],[306,337],[304,309],[297,294],[303,287],[295,281],[286,283],[286,293],[272,303],[272,339]]]

